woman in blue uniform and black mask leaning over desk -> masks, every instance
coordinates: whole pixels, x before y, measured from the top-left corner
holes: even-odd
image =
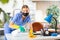
[[[4,34],[11,33],[13,30],[18,29],[20,26],[27,23],[30,24],[29,7],[27,5],[23,5],[21,12],[17,13],[10,23],[5,23]],[[7,40],[6,37],[5,40]]]

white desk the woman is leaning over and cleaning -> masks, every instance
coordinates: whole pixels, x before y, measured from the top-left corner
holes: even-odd
[[[37,35],[36,38],[29,38],[28,33],[18,33],[16,35],[6,34],[8,40],[52,40],[60,39],[60,36],[42,36]]]

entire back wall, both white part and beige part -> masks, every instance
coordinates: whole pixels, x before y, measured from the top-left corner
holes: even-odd
[[[15,2],[16,1],[16,2]],[[15,2],[15,3],[14,3]],[[32,2],[31,0],[25,0],[24,4],[27,4],[30,8],[30,15],[35,15],[35,19],[40,20],[43,22],[44,17],[46,17],[46,9],[52,5],[55,4],[60,8],[60,1],[37,1],[37,2]],[[10,0],[8,4],[1,4],[0,7],[5,10],[5,12],[10,12],[11,16],[13,16],[13,12],[15,9],[21,9],[21,6],[23,5],[22,0]],[[39,14],[40,13],[40,14]],[[39,17],[37,16],[39,15]],[[38,17],[38,18],[37,18]],[[32,17],[31,17],[32,18]],[[32,18],[32,20],[34,17]],[[60,19],[60,18],[59,18]]]

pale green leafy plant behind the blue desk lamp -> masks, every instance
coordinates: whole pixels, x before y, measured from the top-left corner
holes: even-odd
[[[60,9],[57,7],[57,5],[52,5],[52,6],[49,6],[47,8],[47,15],[49,14],[53,14],[53,17],[55,17],[56,19],[59,17],[59,14],[60,14]],[[58,20],[57,20],[58,22]],[[54,28],[55,27],[55,20],[52,18],[52,21],[51,21],[51,28]]]

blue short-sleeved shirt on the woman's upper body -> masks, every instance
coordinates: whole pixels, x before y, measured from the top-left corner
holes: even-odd
[[[28,15],[24,20],[22,20],[22,13],[17,13],[11,20],[16,25],[23,26],[24,24],[31,22],[30,16]]]

